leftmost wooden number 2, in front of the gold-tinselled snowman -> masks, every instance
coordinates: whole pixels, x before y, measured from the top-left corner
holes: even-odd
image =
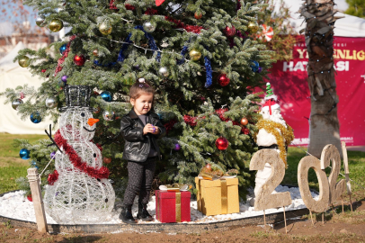
[[[254,210],[261,211],[291,204],[289,192],[275,193],[272,191],[278,186],[285,175],[285,165],[278,152],[273,149],[262,149],[254,154],[251,159],[250,170],[263,169],[265,163],[272,166],[272,174],[259,189],[254,201]]]

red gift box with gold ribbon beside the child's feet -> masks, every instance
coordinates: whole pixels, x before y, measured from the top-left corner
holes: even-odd
[[[190,221],[190,197],[190,192],[156,190],[156,220],[160,222]]]

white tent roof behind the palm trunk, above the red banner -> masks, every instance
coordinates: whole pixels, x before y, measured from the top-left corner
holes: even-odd
[[[275,3],[280,3],[280,0],[276,0]],[[284,0],[284,3],[289,7],[292,17],[289,21],[295,30],[299,32],[301,29],[306,28],[304,18],[300,18],[300,14],[298,14],[299,8],[304,2],[302,0]],[[348,7],[345,0],[334,0],[334,4],[337,4],[334,8],[340,12],[345,11]],[[280,7],[280,4],[276,5]],[[365,19],[342,13],[337,13],[334,16],[343,16],[342,19],[334,23],[334,36],[365,37]]]

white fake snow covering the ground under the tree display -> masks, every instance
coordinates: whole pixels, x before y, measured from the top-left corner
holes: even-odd
[[[279,185],[275,191],[277,193],[289,192],[291,196],[291,204],[285,207],[285,211],[298,210],[306,208],[303,200],[301,199],[299,188],[298,187],[288,187]],[[252,193],[252,192],[251,192]],[[275,192],[274,192],[275,193]],[[318,194],[312,192],[312,196],[315,200],[318,200]],[[250,206],[251,197],[247,196],[247,202],[240,202],[239,204],[239,212],[231,213],[231,214],[223,214],[223,215],[214,215],[214,216],[205,216],[197,209],[197,202],[191,201],[191,221],[183,222],[183,223],[209,223],[209,222],[217,222],[217,221],[225,221],[225,220],[237,220],[243,219],[253,216],[263,215],[263,211],[254,211],[254,207]],[[156,201],[155,196],[153,196],[148,202],[147,210],[151,215],[154,216],[153,221],[144,222],[139,220],[138,223],[160,223],[156,220]],[[111,211],[111,215],[103,221],[97,222],[98,224],[118,224],[122,223],[119,219],[119,214],[121,211],[121,202],[116,200],[114,210]],[[138,198],[136,198],[135,203],[133,204],[133,216],[136,217],[138,212]],[[266,214],[275,213],[283,211],[282,207],[279,209],[269,209],[265,210]],[[0,216],[4,216],[7,218],[12,218],[16,220],[26,220],[35,222],[35,214],[32,202],[28,201],[26,197],[24,197],[23,191],[17,191],[13,193],[5,193],[2,197],[0,197]],[[55,220],[53,220],[48,214],[46,214],[47,222],[49,224],[58,224]]]

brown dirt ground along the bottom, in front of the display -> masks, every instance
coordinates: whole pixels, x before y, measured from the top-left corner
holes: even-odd
[[[337,204],[335,211],[315,214],[314,225],[309,215],[299,220],[288,220],[288,234],[283,222],[271,226],[243,226],[225,231],[211,230],[201,234],[165,234],[158,232],[137,233],[123,232],[116,234],[40,234],[35,229],[16,228],[9,224],[0,225],[0,242],[365,242],[365,198],[358,194],[353,202],[353,212],[349,204],[344,207]],[[348,200],[344,200],[345,202]],[[334,215],[334,216],[333,216]]]

